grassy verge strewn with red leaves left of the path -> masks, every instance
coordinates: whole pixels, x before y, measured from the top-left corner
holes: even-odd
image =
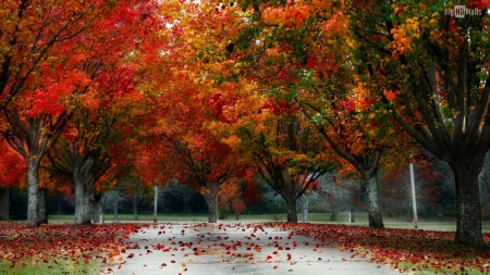
[[[140,226],[0,222],[0,274],[99,274],[122,261],[120,243]]]

